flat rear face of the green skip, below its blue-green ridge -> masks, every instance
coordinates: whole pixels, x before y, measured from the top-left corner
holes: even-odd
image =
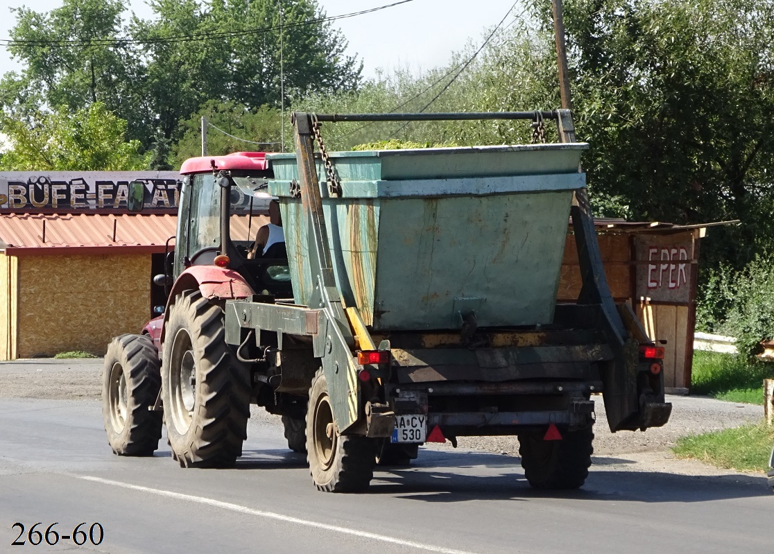
[[[382,200],[375,330],[553,320],[570,190]],[[477,307],[473,307],[477,306]]]

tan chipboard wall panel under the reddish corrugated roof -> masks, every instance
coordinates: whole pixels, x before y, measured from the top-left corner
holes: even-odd
[[[19,258],[19,357],[104,354],[139,333],[150,306],[150,255]]]

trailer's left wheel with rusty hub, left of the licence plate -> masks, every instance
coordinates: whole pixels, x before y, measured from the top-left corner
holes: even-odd
[[[314,485],[320,491],[365,491],[374,477],[374,443],[365,436],[338,433],[321,368],[309,391],[307,461]]]

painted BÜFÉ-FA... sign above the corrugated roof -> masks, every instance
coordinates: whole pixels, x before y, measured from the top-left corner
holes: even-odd
[[[146,185],[148,210],[176,211],[175,171],[0,172],[0,212],[125,210],[129,183]]]

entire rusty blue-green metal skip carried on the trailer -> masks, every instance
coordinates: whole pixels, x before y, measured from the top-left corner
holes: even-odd
[[[334,277],[373,330],[550,323],[586,145],[333,152],[342,197],[320,196]],[[313,292],[291,155],[269,156],[296,303]],[[318,175],[324,175],[317,160]],[[323,179],[324,183],[324,179]],[[296,285],[296,282],[298,283]]]

